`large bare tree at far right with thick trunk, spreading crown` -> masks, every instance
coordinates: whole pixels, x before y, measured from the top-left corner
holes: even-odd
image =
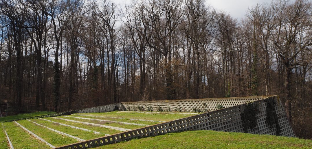
[[[310,10],[311,2],[305,0],[297,0],[293,4],[277,1],[274,7],[276,28],[273,30],[272,42],[285,66],[285,107],[290,120],[293,102],[291,73],[298,65],[294,63],[294,59],[301,51],[312,45],[309,32],[307,32],[311,30]]]

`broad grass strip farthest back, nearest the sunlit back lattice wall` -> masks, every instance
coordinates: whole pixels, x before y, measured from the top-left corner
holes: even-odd
[[[105,113],[82,113],[85,115],[95,116],[109,116],[109,117],[120,117],[128,119],[146,119],[146,120],[157,120],[157,121],[171,121],[175,119],[186,118],[195,114],[151,114],[151,113],[136,113],[136,112],[105,112]],[[75,114],[72,114],[75,115]]]

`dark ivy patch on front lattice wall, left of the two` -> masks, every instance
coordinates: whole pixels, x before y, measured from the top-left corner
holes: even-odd
[[[245,133],[248,133],[248,129],[254,129],[257,127],[258,112],[259,110],[257,105],[253,102],[247,103],[245,105],[244,111],[240,114]]]

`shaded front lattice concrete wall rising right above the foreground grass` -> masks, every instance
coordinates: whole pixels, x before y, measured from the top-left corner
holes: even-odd
[[[278,115],[278,123],[281,126],[280,135],[287,137],[295,137],[292,127],[285,115],[285,110],[281,105],[277,96],[271,96],[266,99],[256,100],[253,103],[257,105],[258,113],[256,114],[256,127],[244,130],[242,125],[243,119],[241,114],[246,109],[246,104],[235,105],[229,108],[219,109],[216,111],[198,114],[195,116],[173,120],[126,131],[110,136],[91,139],[83,142],[73,143],[70,145],[58,147],[62,149],[73,148],[90,148],[100,145],[117,143],[132,138],[156,136],[165,133],[186,131],[186,130],[216,130],[225,132],[248,132],[253,134],[271,134],[275,135],[276,130],[266,122],[267,100],[275,100],[275,112]]]

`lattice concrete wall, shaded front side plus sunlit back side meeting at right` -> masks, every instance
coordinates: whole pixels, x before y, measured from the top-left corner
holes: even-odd
[[[131,131],[126,131],[110,136],[100,137],[96,139],[87,140],[84,142],[78,142],[62,147],[58,147],[61,149],[68,149],[69,147],[73,148],[90,148],[95,146],[102,146],[106,144],[117,143],[121,141],[130,140],[132,138],[140,138],[140,137],[149,137],[149,136],[157,136],[165,133],[172,133],[178,131],[186,131],[186,130],[215,130],[215,131],[225,131],[225,132],[245,132],[252,134],[270,134],[276,135],[279,133],[281,136],[287,137],[295,137],[295,133],[285,115],[285,110],[280,103],[280,100],[277,96],[262,96],[262,97],[242,97],[242,98],[222,98],[222,99],[210,99],[208,100],[187,100],[182,103],[178,103],[178,101],[168,101],[168,104],[161,104],[161,101],[152,101],[148,102],[132,102],[128,104],[124,104],[125,107],[129,106],[146,106],[146,105],[159,105],[159,106],[169,106],[169,107],[180,107],[184,106],[185,111],[191,110],[196,105],[202,105],[203,103],[208,103],[210,109],[213,110],[216,108],[215,106],[219,103],[223,104],[223,106],[227,107],[224,109],[219,109],[203,114],[198,114],[195,116],[190,116],[183,119],[173,120],[170,122],[164,122],[155,124],[152,126],[147,126]],[[248,121],[244,118],[244,113],[249,112],[247,107],[250,107],[250,103],[246,103],[249,101],[253,101],[254,109],[252,111],[256,111],[256,117],[254,120]],[[276,122],[275,125],[270,125],[267,120],[267,111],[268,111],[268,103],[272,103],[274,101],[273,108],[275,111],[271,111],[275,119],[271,119]],[[223,103],[222,103],[223,102]],[[192,103],[192,104],[190,104]],[[171,105],[170,105],[171,104]],[[210,105],[209,105],[210,104]],[[198,107],[197,107],[198,108]],[[203,108],[203,107],[202,107]],[[251,112],[252,112],[251,111]],[[250,120],[250,119],[249,119]],[[246,127],[247,124],[255,123],[255,127]],[[245,124],[245,125],[244,125]],[[277,132],[277,127],[279,127],[279,131]]]

